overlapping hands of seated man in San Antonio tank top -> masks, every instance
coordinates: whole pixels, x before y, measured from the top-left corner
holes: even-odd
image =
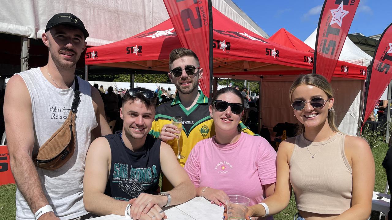
[[[141,193],[138,198],[132,198],[131,200],[129,200],[129,204],[132,205],[131,216],[133,218],[140,219],[142,213],[147,214],[149,211],[151,211],[150,209],[152,209],[154,205],[158,205],[158,212],[161,211],[162,209],[160,207],[163,207],[167,204],[167,197],[161,195]]]

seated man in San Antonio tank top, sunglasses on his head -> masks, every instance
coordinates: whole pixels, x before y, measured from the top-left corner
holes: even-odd
[[[127,90],[120,108],[122,132],[91,143],[83,180],[87,211],[161,220],[162,207],[196,196],[172,148],[149,134],[156,101],[156,94],[145,88]],[[161,170],[174,189],[158,194]]]

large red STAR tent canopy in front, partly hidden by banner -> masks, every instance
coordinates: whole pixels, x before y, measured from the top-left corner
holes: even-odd
[[[214,74],[310,73],[313,53],[267,40],[213,8]],[[132,21],[130,21],[132,22]],[[125,40],[87,49],[85,63],[168,71],[169,53],[181,47],[171,20]]]

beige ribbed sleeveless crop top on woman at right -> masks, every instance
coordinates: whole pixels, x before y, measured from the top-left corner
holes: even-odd
[[[352,172],[344,151],[345,137],[336,133],[323,142],[308,141],[303,134],[296,137],[290,182],[298,210],[339,215],[351,207]]]

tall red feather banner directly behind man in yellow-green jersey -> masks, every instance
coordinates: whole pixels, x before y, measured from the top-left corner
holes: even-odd
[[[201,90],[210,97],[212,83],[211,0],[163,0],[181,45],[199,58],[203,76]]]

